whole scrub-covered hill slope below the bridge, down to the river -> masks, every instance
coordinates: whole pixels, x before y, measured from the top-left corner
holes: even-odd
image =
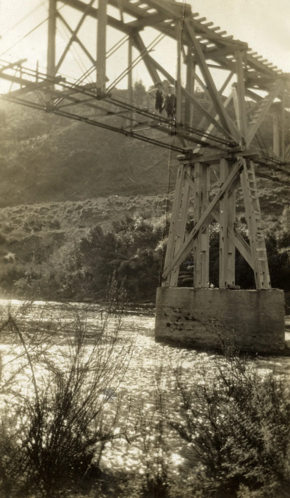
[[[145,90],[142,85],[136,88],[142,100]],[[269,126],[263,129],[268,144]],[[99,300],[114,273],[118,282],[125,282],[131,301],[154,301],[171,216],[176,154],[3,102],[0,129],[1,294]],[[213,190],[218,188],[215,169]],[[258,186],[272,283],[288,291],[289,187],[262,179]],[[237,226],[247,238],[239,191],[237,216]],[[192,227],[191,207],[187,230]],[[218,285],[215,224],[210,234],[210,282]],[[236,266],[237,283],[253,288],[251,270],[238,253]],[[181,270],[189,276],[186,266]]]

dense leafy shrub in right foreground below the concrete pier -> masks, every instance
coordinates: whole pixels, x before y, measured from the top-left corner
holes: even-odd
[[[171,426],[191,448],[195,492],[246,498],[267,489],[263,496],[284,496],[290,484],[286,383],[258,372],[228,348],[224,359],[210,365],[204,359],[197,380],[196,371],[175,369],[181,403],[178,417],[169,414]]]

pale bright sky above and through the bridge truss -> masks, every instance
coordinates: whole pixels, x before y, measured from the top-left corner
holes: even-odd
[[[86,0],[88,2],[89,0]],[[290,73],[290,1],[289,0],[189,0],[193,12],[199,12],[207,21],[213,21],[228,34],[234,35],[249,47],[257,51],[263,58],[273,62],[283,72]],[[58,6],[63,4],[60,1]],[[94,3],[97,7],[97,0]],[[80,13],[67,6],[62,6],[62,15],[74,29]],[[119,15],[113,7],[108,7],[108,13]],[[47,21],[23,38],[35,26],[48,16],[48,0],[0,0],[0,59],[7,62],[27,58],[28,67],[36,68],[39,61],[40,70],[46,66]],[[130,20],[125,16],[125,20]],[[146,45],[158,33],[151,28],[145,29],[141,35]],[[122,34],[107,29],[107,49],[113,46]],[[79,33],[80,39],[87,48],[95,54],[97,26],[93,19],[88,18]],[[23,38],[23,39],[21,39]],[[62,25],[58,26],[57,59],[68,42],[68,32]],[[107,76],[109,83],[127,66],[126,45],[120,48],[107,61]],[[138,52],[133,51],[133,59]],[[173,40],[163,39],[156,47],[152,56],[156,58],[173,76],[176,68],[176,45]],[[64,75],[77,79],[91,67],[91,62],[77,45],[70,51],[66,62],[60,69]],[[142,79],[146,87],[152,84],[143,63],[133,70],[133,80]],[[118,85],[125,88],[126,78]],[[10,84],[1,82],[0,93],[9,90]],[[14,85],[12,89],[16,89]]]

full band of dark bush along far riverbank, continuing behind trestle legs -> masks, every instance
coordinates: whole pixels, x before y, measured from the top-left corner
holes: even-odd
[[[108,202],[115,199],[108,199]],[[166,199],[160,201],[163,203]],[[149,209],[134,215],[116,215],[106,226],[89,231],[56,233],[53,238],[29,236],[21,246],[23,262],[2,257],[0,286],[7,296],[33,296],[51,300],[103,299],[107,279],[115,274],[124,284],[129,301],[154,301],[160,285],[160,272],[167,244],[170,218],[157,218]],[[290,291],[289,209],[281,221],[272,221],[265,229],[266,248],[272,287]],[[55,223],[55,220],[53,220]],[[187,232],[193,227],[189,216]],[[240,216],[236,229],[248,242],[245,218]],[[209,284],[219,284],[219,226],[209,227]],[[8,249],[20,250],[19,241],[8,241]],[[13,245],[14,244],[14,245]],[[6,251],[7,252],[7,251]],[[10,254],[10,252],[9,252]],[[7,258],[6,258],[7,259]],[[178,285],[193,285],[193,253],[180,267]],[[190,267],[190,268],[188,268]],[[242,289],[254,289],[254,274],[235,250],[235,281]]]

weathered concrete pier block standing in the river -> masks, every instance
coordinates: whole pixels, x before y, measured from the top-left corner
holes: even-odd
[[[181,347],[220,348],[219,330],[240,350],[284,354],[284,292],[188,287],[157,289],[155,339]]]

